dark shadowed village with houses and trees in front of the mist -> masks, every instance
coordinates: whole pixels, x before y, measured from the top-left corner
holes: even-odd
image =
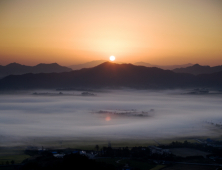
[[[98,166],[101,163],[103,166],[117,170],[152,170],[155,167],[156,169],[159,167],[159,169],[168,170],[170,167],[179,165],[184,168],[193,166],[197,170],[203,166],[208,169],[222,167],[222,141],[210,138],[193,140],[196,142],[175,141],[167,145],[161,145],[155,141],[156,145],[136,147],[112,147],[111,142],[108,142],[107,146],[95,145],[95,148],[91,150],[28,146],[24,153],[30,158],[21,164],[2,164],[1,168],[20,167],[25,169],[24,167],[29,164],[44,164],[45,159],[48,160],[47,164],[49,165],[55,160],[62,164],[68,158],[70,160],[75,158],[84,159],[86,162],[96,162]],[[138,167],[138,164],[142,166]]]

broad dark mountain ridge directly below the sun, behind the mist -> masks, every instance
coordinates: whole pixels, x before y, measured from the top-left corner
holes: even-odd
[[[192,75],[159,68],[105,62],[99,66],[66,73],[41,73],[8,76],[0,80],[0,89],[36,89],[71,87],[187,88],[221,87],[222,72]]]

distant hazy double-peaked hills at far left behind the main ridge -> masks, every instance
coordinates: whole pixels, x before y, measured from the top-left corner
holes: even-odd
[[[21,75],[26,73],[61,73],[72,71],[72,69],[52,64],[38,64],[36,66],[25,66],[18,63],[11,63],[6,66],[0,66],[0,78],[8,75]]]

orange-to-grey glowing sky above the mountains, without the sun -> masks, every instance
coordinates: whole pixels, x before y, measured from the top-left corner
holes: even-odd
[[[0,0],[0,65],[222,65],[222,0]]]

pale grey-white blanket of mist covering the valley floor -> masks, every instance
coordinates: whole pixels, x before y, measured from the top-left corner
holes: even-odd
[[[219,132],[204,122],[222,121],[222,95],[188,95],[181,90],[110,90],[95,96],[79,91],[33,92],[0,95],[0,146],[35,137],[110,141],[212,137]],[[115,113],[151,109],[148,116]]]

